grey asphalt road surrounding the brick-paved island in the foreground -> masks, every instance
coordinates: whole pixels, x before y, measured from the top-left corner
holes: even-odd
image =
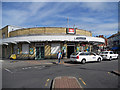
[[[3,88],[50,88],[58,76],[76,77],[83,88],[118,88],[118,60],[2,68]]]

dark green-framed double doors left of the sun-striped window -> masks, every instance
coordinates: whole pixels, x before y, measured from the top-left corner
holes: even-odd
[[[44,59],[44,47],[36,47],[36,60]]]

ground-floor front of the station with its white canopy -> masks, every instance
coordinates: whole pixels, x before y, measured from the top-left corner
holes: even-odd
[[[70,58],[75,51],[91,52],[94,42],[104,43],[104,39],[78,35],[38,35],[6,38],[2,43],[7,43],[4,47],[12,48],[9,55],[16,54],[18,59],[43,60],[57,58],[58,51],[62,52],[63,58]]]

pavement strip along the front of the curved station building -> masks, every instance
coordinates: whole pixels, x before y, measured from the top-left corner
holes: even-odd
[[[69,61],[69,59],[61,59],[60,64]],[[57,59],[46,59],[46,60],[0,60],[2,63],[2,68],[17,68],[17,67],[27,67],[35,65],[52,65],[58,64]]]

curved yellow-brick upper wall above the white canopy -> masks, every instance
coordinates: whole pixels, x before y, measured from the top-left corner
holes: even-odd
[[[62,35],[66,34],[66,28],[52,28],[52,27],[39,27],[39,28],[27,28],[27,29],[19,29],[16,31],[12,31],[9,33],[10,37],[21,36],[21,35],[34,35],[34,34],[42,34],[42,35]],[[92,36],[92,33],[86,30],[76,29],[76,34],[78,35],[86,35]]]

